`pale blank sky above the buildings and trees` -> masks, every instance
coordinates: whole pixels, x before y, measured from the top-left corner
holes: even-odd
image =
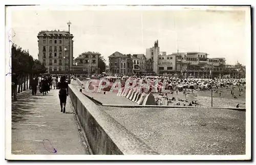
[[[225,57],[228,64],[246,65],[248,31],[245,11],[173,10],[160,7],[40,8],[9,7],[12,42],[37,58],[41,30],[68,30],[74,38],[74,57],[99,52],[107,61],[118,51],[146,54],[158,39],[161,52],[205,52],[209,58]],[[9,20],[7,18],[7,20]]]

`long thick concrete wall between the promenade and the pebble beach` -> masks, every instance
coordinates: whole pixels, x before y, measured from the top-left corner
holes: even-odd
[[[69,84],[69,97],[93,154],[159,154],[115,121],[113,117],[103,110],[104,107],[97,106],[72,84]]]

